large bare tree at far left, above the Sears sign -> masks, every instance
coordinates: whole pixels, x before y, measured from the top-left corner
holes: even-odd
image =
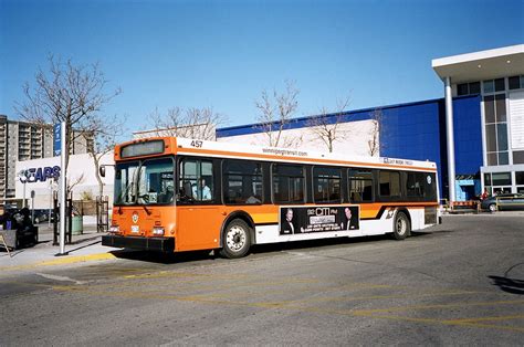
[[[23,119],[39,124],[65,122],[65,143],[67,153],[72,153],[73,143],[84,133],[94,138],[108,122],[102,114],[103,107],[120,90],[106,93],[107,81],[98,64],[74,65],[71,60],[62,62],[53,56],[49,59],[49,71],[39,67],[35,84],[23,85],[25,101],[17,103],[15,112]],[[93,128],[93,125],[97,126]],[[66,156],[67,170],[69,156]],[[74,185],[73,185],[74,186]]]

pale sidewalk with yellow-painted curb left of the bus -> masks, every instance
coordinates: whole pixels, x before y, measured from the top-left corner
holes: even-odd
[[[28,270],[39,266],[72,264],[86,261],[108,260],[116,256],[111,253],[120,249],[102,245],[102,235],[96,232],[96,225],[85,224],[80,235],[72,235],[72,243],[65,244],[67,255],[56,256],[60,245],[53,245],[53,225],[41,223],[39,227],[39,243],[20,250],[8,252],[0,246],[0,273],[6,271]]]

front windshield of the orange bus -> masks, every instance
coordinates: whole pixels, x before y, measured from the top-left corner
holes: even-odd
[[[171,204],[174,169],[171,158],[116,165],[115,204]]]

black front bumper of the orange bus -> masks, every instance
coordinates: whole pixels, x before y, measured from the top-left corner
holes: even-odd
[[[140,238],[120,236],[108,234],[102,236],[102,245],[118,249],[133,249],[143,251],[174,252],[175,238]]]

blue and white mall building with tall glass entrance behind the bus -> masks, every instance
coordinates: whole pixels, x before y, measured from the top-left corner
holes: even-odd
[[[524,44],[436,59],[432,69],[443,97],[326,115],[343,134],[333,151],[371,155],[378,122],[374,155],[437,162],[443,199],[470,200],[484,188],[524,192]],[[281,136],[304,149],[326,149],[314,118],[292,119]],[[268,145],[268,133],[249,124],[219,128],[217,139]]]

